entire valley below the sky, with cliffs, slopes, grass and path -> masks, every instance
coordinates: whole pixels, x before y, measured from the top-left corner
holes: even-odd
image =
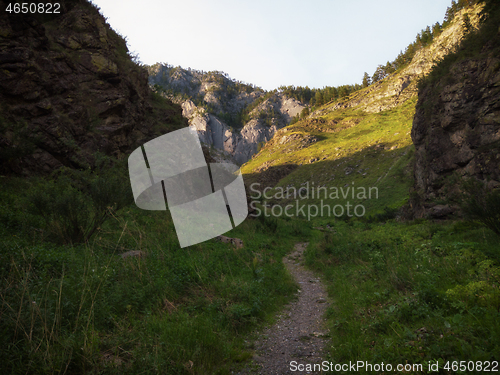
[[[500,369],[497,2],[452,2],[361,84],[273,91],[62,10],[0,17],[1,373]],[[249,215],[181,248],[127,158],[187,126]]]

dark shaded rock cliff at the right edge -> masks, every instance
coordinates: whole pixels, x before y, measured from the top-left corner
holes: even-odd
[[[500,186],[500,30],[488,40],[419,93],[411,133],[417,216],[451,213],[439,202],[464,177]]]

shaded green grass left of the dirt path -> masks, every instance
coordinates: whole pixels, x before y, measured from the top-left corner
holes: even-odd
[[[308,237],[295,221],[247,220],[226,234],[242,249],[180,249],[168,212],[128,206],[87,243],[58,245],[22,193],[36,179],[0,181],[2,373],[229,374],[296,291],[281,263]]]

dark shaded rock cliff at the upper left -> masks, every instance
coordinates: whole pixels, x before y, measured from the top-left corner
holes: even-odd
[[[2,12],[0,46],[1,173],[84,168],[187,125],[88,1],[49,20]]]

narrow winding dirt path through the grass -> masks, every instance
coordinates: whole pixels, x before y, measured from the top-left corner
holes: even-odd
[[[327,293],[323,283],[302,266],[306,247],[307,243],[296,244],[294,252],[283,259],[300,286],[298,300],[287,305],[277,322],[259,335],[253,362],[239,375],[315,374],[293,366],[321,363],[324,359]]]

